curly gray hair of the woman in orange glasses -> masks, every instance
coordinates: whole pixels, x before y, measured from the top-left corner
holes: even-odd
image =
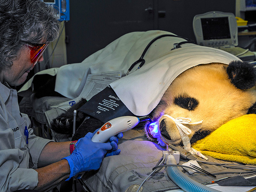
[[[41,0],[0,0],[0,69],[12,65],[24,43],[49,43],[59,36],[59,12]]]

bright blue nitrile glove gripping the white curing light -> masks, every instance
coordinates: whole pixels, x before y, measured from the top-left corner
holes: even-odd
[[[112,156],[120,153],[120,149],[117,149],[118,139],[115,136],[113,138],[111,137],[111,142],[108,143],[92,142],[92,136],[96,132],[97,130],[94,133],[89,132],[83,138],[79,139],[76,142],[76,148],[73,153],[63,158],[68,161],[70,166],[70,176],[67,180],[79,172],[99,169],[106,154],[106,156]],[[123,137],[123,134],[118,134],[117,137],[120,139]],[[112,151],[108,152],[108,150]]]

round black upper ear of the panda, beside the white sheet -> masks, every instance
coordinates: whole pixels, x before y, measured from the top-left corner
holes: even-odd
[[[231,83],[238,89],[250,89],[256,84],[256,68],[248,62],[231,61],[226,71]]]

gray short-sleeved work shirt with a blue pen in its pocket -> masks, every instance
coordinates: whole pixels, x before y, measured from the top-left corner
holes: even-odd
[[[28,145],[24,136],[28,127]],[[0,191],[34,189],[38,183],[38,158],[53,140],[37,137],[26,114],[21,114],[17,91],[0,83]],[[31,154],[31,157],[30,157]],[[33,169],[32,169],[33,168]]]

